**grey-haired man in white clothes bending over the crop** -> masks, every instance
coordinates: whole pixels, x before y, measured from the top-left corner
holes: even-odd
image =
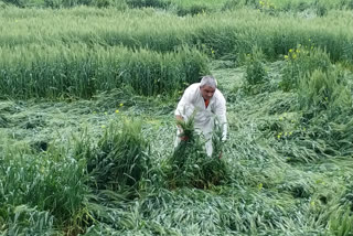
[[[222,126],[223,137],[226,140],[227,119],[226,119],[226,101],[222,93],[217,89],[217,83],[213,76],[204,76],[201,83],[190,85],[175,109],[175,118],[178,120],[188,120],[193,112],[194,128],[197,133],[202,133],[206,141],[205,148],[208,157],[212,155],[212,131],[215,118]],[[179,127],[174,146],[176,147],[183,137],[180,137],[182,129]]]

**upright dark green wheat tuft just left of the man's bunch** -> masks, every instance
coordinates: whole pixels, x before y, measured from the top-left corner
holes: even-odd
[[[141,135],[141,122],[126,120],[120,130],[110,124],[96,147],[77,142],[75,153],[87,159],[93,185],[99,190],[138,187],[151,168],[149,142]]]

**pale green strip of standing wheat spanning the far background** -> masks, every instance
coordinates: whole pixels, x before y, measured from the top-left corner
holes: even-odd
[[[203,49],[216,58],[239,60],[257,45],[268,58],[277,60],[298,44],[314,43],[325,49],[333,61],[351,62],[353,56],[353,33],[346,30],[351,25],[349,11],[331,11],[327,17],[313,19],[286,13],[272,17],[250,9],[185,18],[161,14],[153,9],[2,11],[2,47],[79,42],[88,46],[122,44],[167,52],[186,44]],[[54,24],[56,28],[51,26]]]

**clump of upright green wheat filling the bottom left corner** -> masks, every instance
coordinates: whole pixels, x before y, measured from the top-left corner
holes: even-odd
[[[1,224],[9,234],[50,235],[55,226],[77,234],[85,227],[86,160],[65,150],[38,153],[19,146],[2,150],[0,161]]]

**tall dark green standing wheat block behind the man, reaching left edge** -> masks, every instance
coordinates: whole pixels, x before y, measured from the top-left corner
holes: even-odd
[[[158,53],[86,44],[1,47],[2,97],[82,97],[129,86],[138,95],[172,95],[207,73],[206,58],[183,47]],[[15,53],[13,53],[15,52]]]

